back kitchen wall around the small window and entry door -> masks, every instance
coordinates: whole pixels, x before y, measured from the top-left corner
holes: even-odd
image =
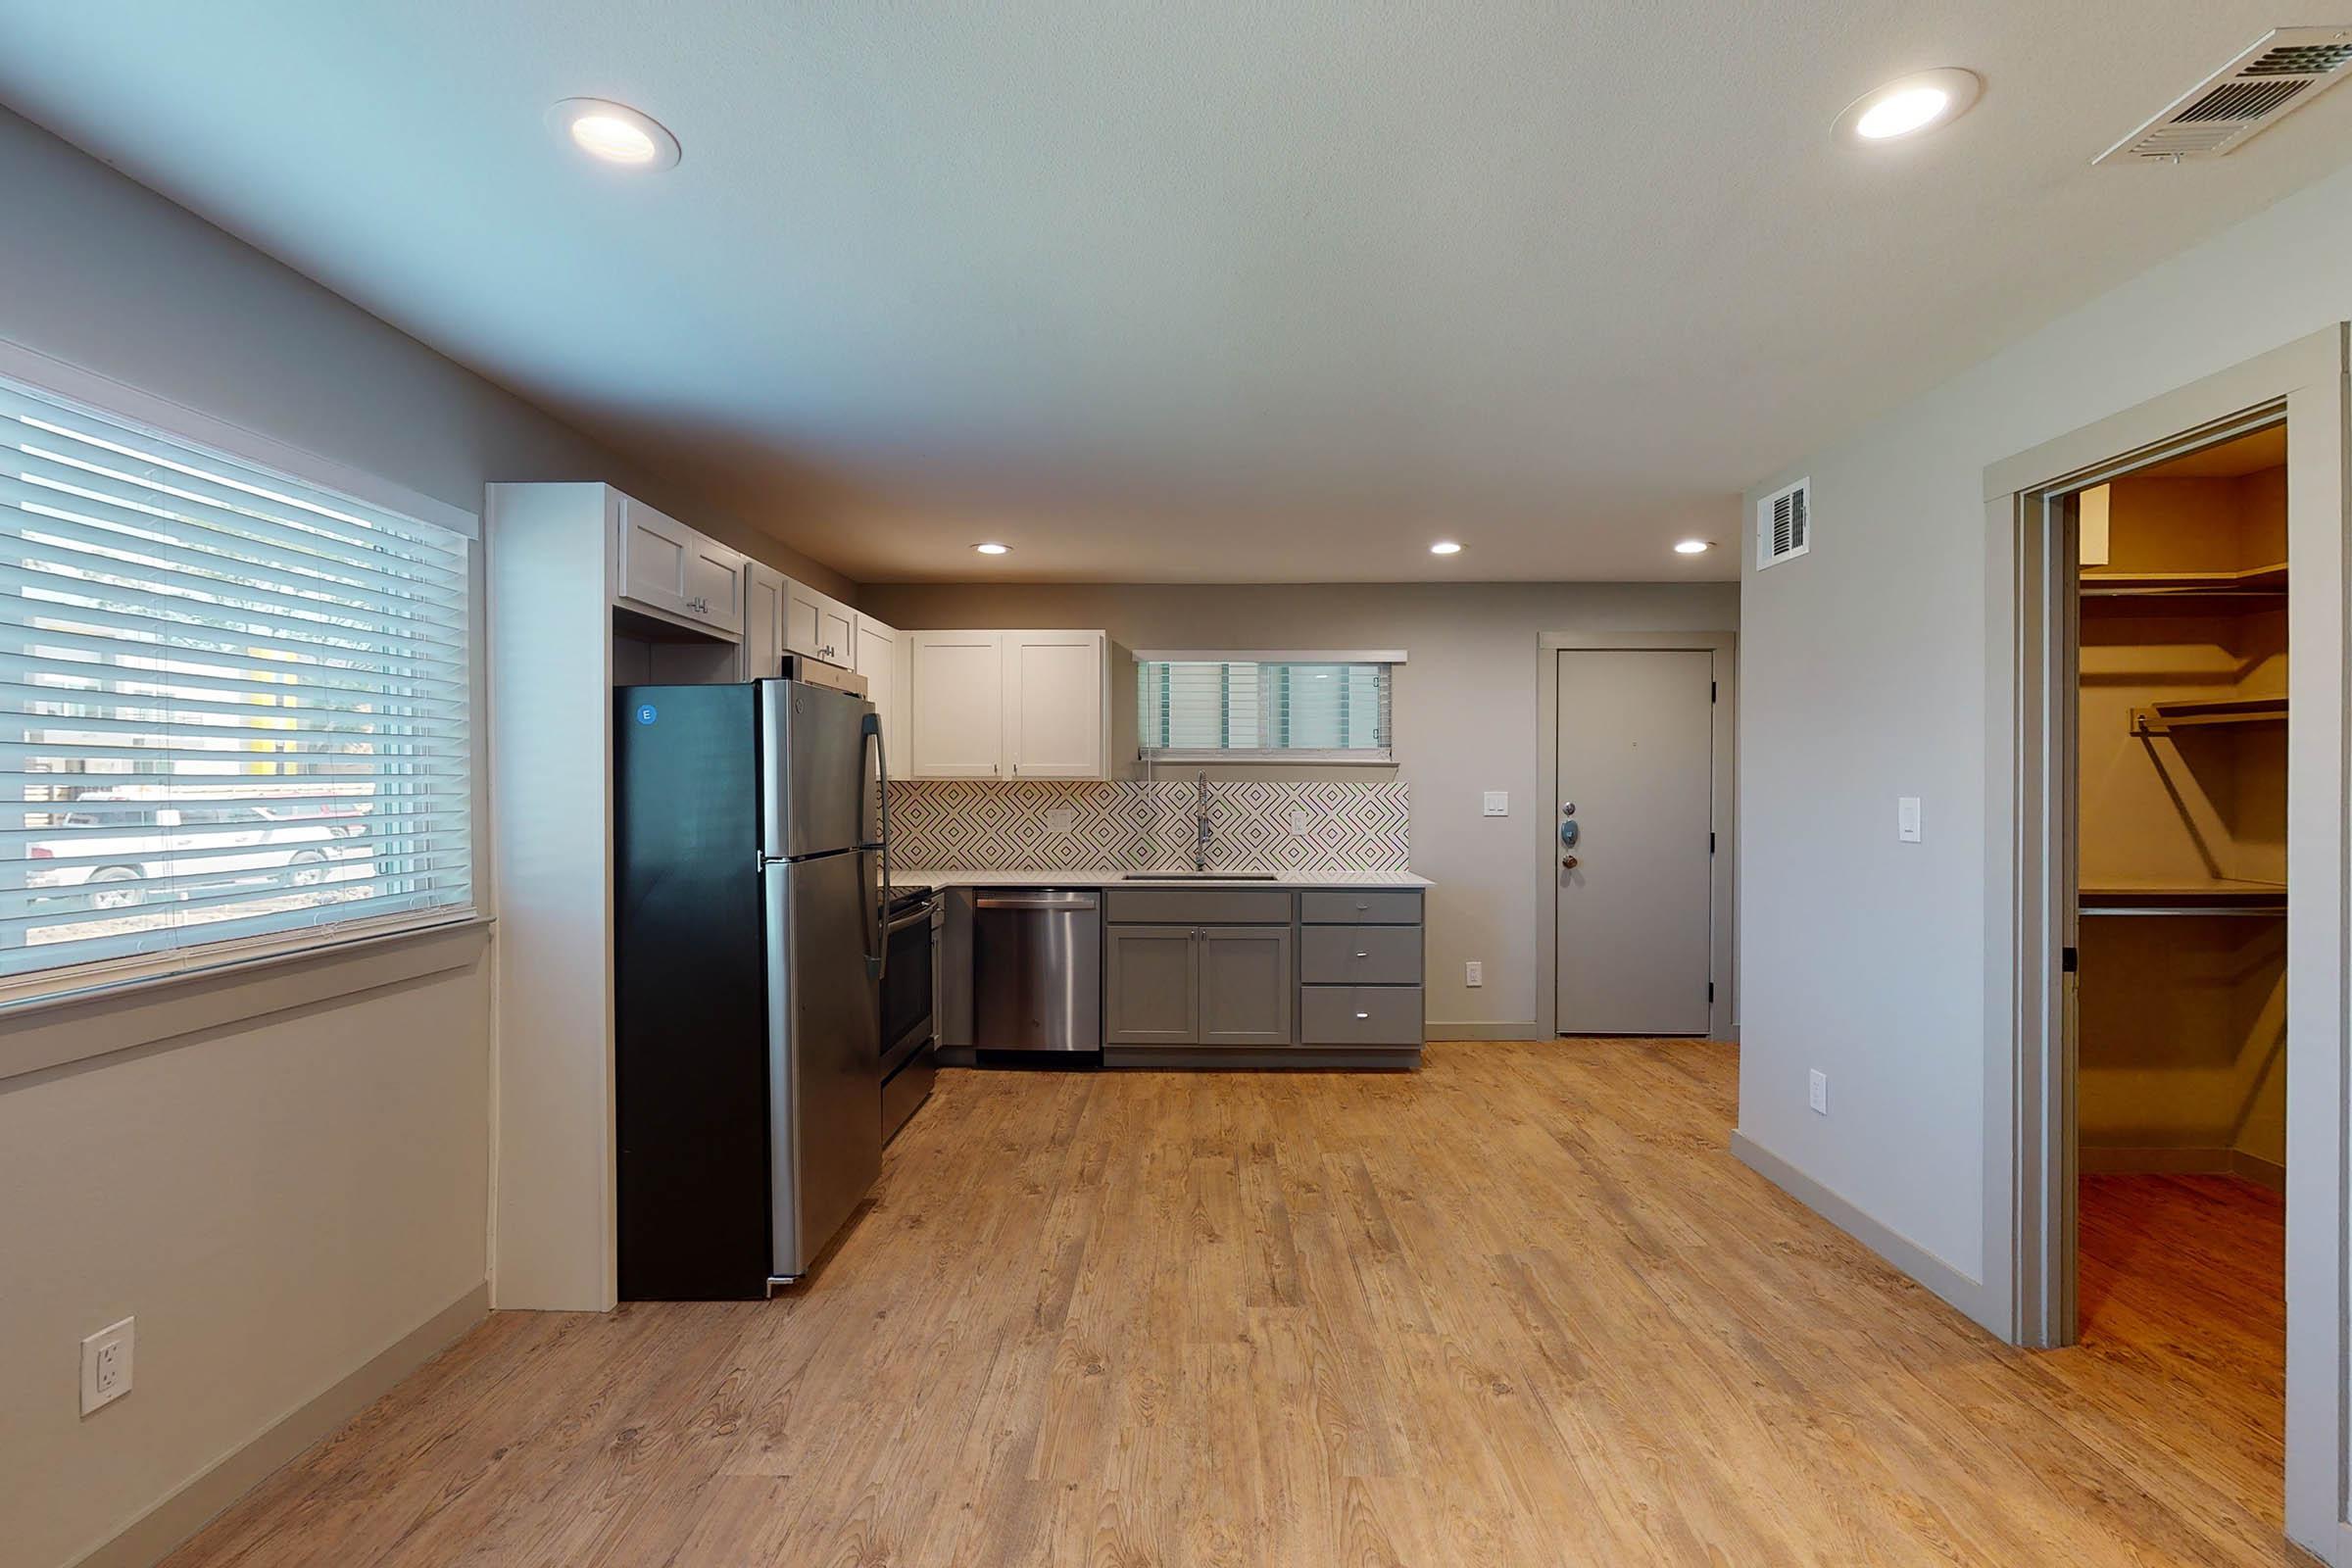
[[[1536,943],[1552,896],[1552,865],[1531,820],[1550,820],[1536,639],[1738,625],[1731,583],[884,583],[868,585],[858,604],[908,630],[1108,630],[1112,672],[1124,677],[1110,703],[1115,759],[1136,752],[1131,649],[1404,649],[1397,766],[1223,766],[1211,778],[1406,785],[1411,867],[1437,884],[1428,898],[1430,1027],[1472,1039],[1536,1027]],[[1510,792],[1508,818],[1479,816],[1484,790]],[[1484,959],[1484,987],[1463,985],[1465,959]]]

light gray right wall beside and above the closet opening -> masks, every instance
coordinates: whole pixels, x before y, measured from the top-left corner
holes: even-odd
[[[1743,581],[1740,1128],[1969,1281],[2009,1246],[1985,1234],[1985,468],[2352,317],[2347,254],[2352,169],[1759,487],[1811,475],[1816,531]]]

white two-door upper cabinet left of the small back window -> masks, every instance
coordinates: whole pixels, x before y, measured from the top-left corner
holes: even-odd
[[[906,632],[910,778],[1108,778],[1103,632]]]

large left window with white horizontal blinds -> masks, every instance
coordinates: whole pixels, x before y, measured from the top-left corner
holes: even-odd
[[[466,912],[468,541],[0,381],[0,997]]]

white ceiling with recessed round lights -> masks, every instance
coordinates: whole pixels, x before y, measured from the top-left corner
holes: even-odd
[[[2345,89],[2089,167],[2274,5],[0,0],[0,101],[861,581],[1726,578],[1743,487],[2352,158]]]

